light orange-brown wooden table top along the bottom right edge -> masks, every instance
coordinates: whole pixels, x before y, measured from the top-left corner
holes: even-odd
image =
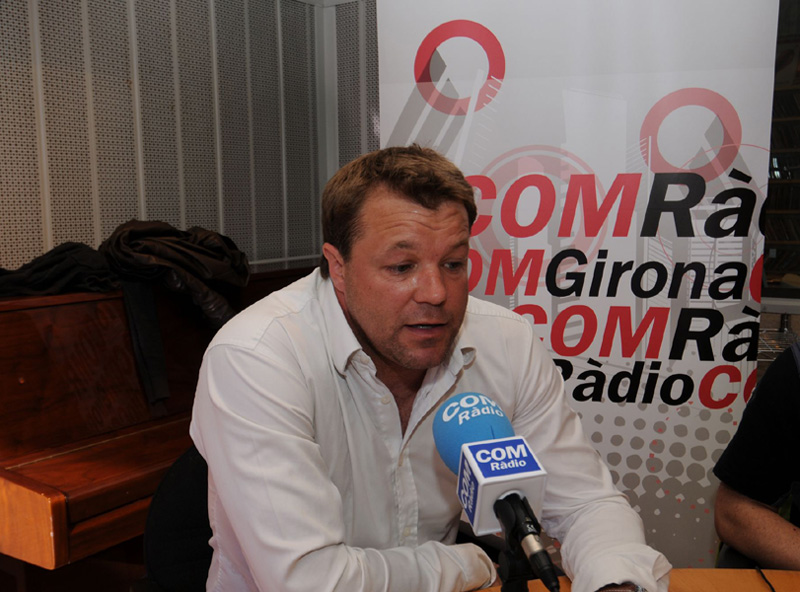
[[[765,569],[764,575],[775,592],[800,591],[800,571]],[[570,592],[567,578],[561,578],[561,592]],[[540,581],[531,582],[530,592],[547,592]],[[489,588],[500,592],[500,587]],[[673,569],[669,592],[770,592],[769,586],[753,569]]]

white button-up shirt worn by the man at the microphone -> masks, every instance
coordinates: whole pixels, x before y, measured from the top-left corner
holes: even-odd
[[[540,518],[562,543],[572,589],[631,580],[665,592],[669,563],[645,545],[524,319],[470,298],[454,352],[428,371],[403,433],[391,392],[319,271],[236,316],[206,352],[191,435],[209,465],[207,589],[489,585],[486,555],[451,544],[456,476],[433,441],[438,406],[465,391],[497,401],[547,469]]]

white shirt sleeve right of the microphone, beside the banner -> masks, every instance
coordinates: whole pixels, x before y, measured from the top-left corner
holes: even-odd
[[[530,358],[523,362],[521,402],[512,422],[547,471],[541,522],[561,542],[573,592],[625,581],[667,592],[671,565],[645,542],[639,515],[586,438],[561,374],[535,335]]]

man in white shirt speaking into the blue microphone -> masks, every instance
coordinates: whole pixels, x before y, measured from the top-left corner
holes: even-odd
[[[439,405],[493,397],[548,470],[542,523],[575,592],[667,589],[669,563],[612,485],[520,316],[468,297],[476,209],[433,150],[346,165],[322,197],[319,270],[230,321],[206,352],[192,437],[209,465],[208,589],[460,591],[491,561],[453,545]]]

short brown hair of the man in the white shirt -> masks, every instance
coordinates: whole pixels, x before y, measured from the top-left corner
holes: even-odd
[[[364,202],[377,188],[388,189],[429,210],[445,202],[460,203],[467,211],[470,228],[477,216],[472,186],[456,165],[432,148],[412,144],[376,150],[344,165],[322,192],[322,238],[345,260],[362,230]],[[324,255],[320,272],[322,277],[329,275]]]

